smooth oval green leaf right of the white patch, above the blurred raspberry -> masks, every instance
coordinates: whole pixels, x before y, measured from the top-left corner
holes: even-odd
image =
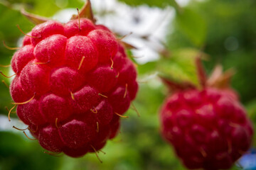
[[[206,40],[206,21],[196,11],[183,8],[177,13],[175,19],[176,27],[196,47],[201,47]]]

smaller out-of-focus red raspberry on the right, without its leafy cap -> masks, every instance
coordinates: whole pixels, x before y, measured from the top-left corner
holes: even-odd
[[[160,117],[163,137],[188,169],[229,169],[252,142],[252,123],[231,89],[176,91]]]

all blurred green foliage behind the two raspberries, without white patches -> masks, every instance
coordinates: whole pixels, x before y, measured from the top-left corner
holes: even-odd
[[[107,154],[100,154],[103,164],[98,162],[95,154],[79,159],[53,157],[44,154],[38,142],[28,140],[22,132],[0,131],[1,170],[184,169],[159,134],[158,112],[167,90],[154,75],[161,72],[177,81],[198,84],[193,60],[201,51],[210,56],[204,62],[208,73],[218,63],[223,64],[225,69],[235,67],[237,72],[233,77],[233,87],[256,123],[256,1],[191,1],[186,7],[178,6],[174,0],[119,1],[135,8],[146,4],[158,8],[173,6],[176,9],[174,21],[170,21],[170,31],[166,33],[170,56],[138,66],[140,88],[134,106],[141,117],[138,118],[137,113],[129,109],[129,119],[122,120],[121,133],[107,143],[103,149]],[[33,28],[33,24],[16,10],[21,6],[31,13],[50,17],[61,8],[81,7],[82,1],[0,1],[0,42],[5,40],[11,47],[15,47],[22,36],[16,28],[17,24],[24,32]],[[9,64],[13,53],[0,45],[0,63]],[[1,68],[1,71],[9,74],[8,69]],[[6,115],[4,106],[10,106],[11,97],[4,84],[0,85],[0,91],[0,113]]]

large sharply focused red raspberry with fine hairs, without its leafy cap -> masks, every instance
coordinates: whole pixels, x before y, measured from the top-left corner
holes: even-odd
[[[80,157],[112,139],[134,100],[134,64],[105,26],[87,18],[41,23],[11,60],[17,115],[50,152]]]

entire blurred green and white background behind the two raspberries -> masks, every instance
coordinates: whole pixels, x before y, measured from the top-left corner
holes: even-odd
[[[256,125],[256,1],[255,0],[91,0],[97,23],[108,26],[117,35],[128,35],[125,42],[137,47],[128,54],[137,63],[139,93],[128,119],[122,119],[121,132],[107,142],[100,154],[73,159],[43,153],[38,142],[28,140],[26,128],[11,108],[9,89],[0,84],[0,170],[9,169],[185,169],[173,149],[159,134],[159,109],[167,89],[157,74],[165,74],[198,84],[194,58],[203,52],[208,73],[216,64],[233,68],[233,88]],[[77,13],[81,0],[0,0],[0,42],[11,47],[21,45],[24,32],[33,24],[19,10],[53,18],[63,23]],[[132,34],[130,34],[132,33]],[[129,35],[130,34],[130,35]],[[7,65],[14,51],[0,43],[0,64]],[[9,68],[0,68],[11,75]],[[1,77],[6,84],[10,79]],[[256,147],[254,140],[253,146]],[[240,159],[243,169],[256,169],[255,150]],[[254,168],[253,168],[254,166]],[[233,169],[242,169],[234,166]]]

